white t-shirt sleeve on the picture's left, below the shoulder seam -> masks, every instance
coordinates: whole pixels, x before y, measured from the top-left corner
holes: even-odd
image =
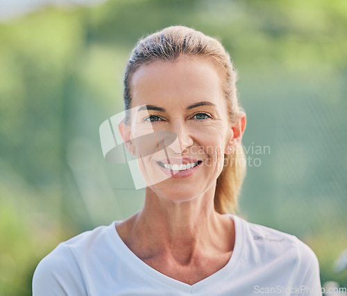
[[[87,295],[76,258],[62,244],[40,261],[33,275],[33,296],[53,295]]]

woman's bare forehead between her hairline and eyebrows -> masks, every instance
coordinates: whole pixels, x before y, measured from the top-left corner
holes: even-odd
[[[217,67],[203,58],[180,57],[142,65],[131,79],[132,106],[166,104],[185,106],[196,101],[223,104]]]

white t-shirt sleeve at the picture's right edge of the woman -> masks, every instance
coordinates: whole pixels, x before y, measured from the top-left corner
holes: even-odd
[[[318,259],[312,249],[301,240],[298,240],[296,283],[298,283],[298,286],[296,286],[295,295],[322,295]]]

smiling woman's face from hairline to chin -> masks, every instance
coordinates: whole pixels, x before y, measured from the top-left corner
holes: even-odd
[[[151,190],[184,201],[215,186],[235,142],[214,65],[191,57],[142,65],[131,94],[128,149]]]

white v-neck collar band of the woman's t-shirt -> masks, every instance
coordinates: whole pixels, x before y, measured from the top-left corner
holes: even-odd
[[[209,277],[206,277],[205,279],[202,279],[201,281],[198,281],[197,283],[194,283],[193,285],[189,285],[187,283],[183,283],[182,281],[178,281],[176,279],[172,279],[171,277],[168,277],[165,274],[162,274],[161,272],[158,272],[158,270],[155,270],[154,268],[151,268],[151,266],[147,265],[142,261],[139,257],[137,257],[124,243],[123,240],[121,240],[119,234],[117,233],[116,225],[121,223],[121,221],[114,221],[112,224],[108,226],[108,233],[110,235],[111,240],[114,242],[115,246],[115,252],[123,254],[123,258],[126,258],[128,262],[135,265],[135,268],[137,270],[141,270],[146,274],[146,276],[151,277],[154,281],[158,281],[159,283],[169,286],[170,288],[173,288],[174,290],[178,290],[179,292],[183,293],[196,293],[200,290],[203,290],[205,288],[218,285],[218,282],[221,281],[226,275],[230,274],[233,268],[237,265],[237,261],[239,260],[239,256],[242,253],[242,245],[244,243],[244,229],[243,229],[243,223],[242,218],[237,217],[236,215],[231,214],[225,214],[227,217],[230,217],[230,219],[234,220],[235,223],[235,245],[234,249],[232,251],[232,254],[230,256],[230,259],[226,265],[224,265],[223,268],[218,270],[217,272],[214,272],[214,274],[211,274]]]

